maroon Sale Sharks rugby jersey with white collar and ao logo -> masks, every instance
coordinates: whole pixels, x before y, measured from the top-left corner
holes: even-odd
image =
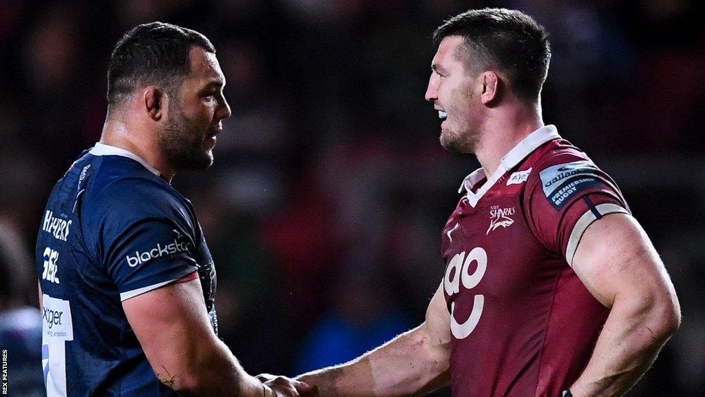
[[[479,169],[443,228],[453,397],[558,397],[587,365],[608,309],[570,263],[590,223],[628,213],[613,180],[544,126],[486,178]]]

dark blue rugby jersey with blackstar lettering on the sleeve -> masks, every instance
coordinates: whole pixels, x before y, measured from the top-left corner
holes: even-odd
[[[121,302],[197,271],[218,332],[215,268],[190,201],[137,155],[97,143],[51,191],[36,254],[47,396],[176,396]]]

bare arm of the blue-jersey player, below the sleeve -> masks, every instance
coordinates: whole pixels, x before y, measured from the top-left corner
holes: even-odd
[[[123,309],[166,386],[188,396],[262,397],[262,384],[212,331],[200,280],[130,298]]]

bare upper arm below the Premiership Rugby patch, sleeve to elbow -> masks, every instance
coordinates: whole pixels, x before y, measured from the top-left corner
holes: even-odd
[[[646,232],[630,215],[595,220],[580,238],[572,268],[605,307],[617,297],[671,297],[673,284]]]

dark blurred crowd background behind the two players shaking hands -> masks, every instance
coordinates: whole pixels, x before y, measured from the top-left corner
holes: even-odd
[[[682,327],[629,395],[704,395],[695,0],[0,0],[0,344],[11,390],[41,395],[30,391],[41,381],[39,312],[27,308],[36,233],[51,186],[99,139],[123,32],[161,20],[216,46],[233,116],[212,169],[173,184],[216,261],[221,338],[248,372],[295,375],[422,321],[443,274],[441,228],[478,167],[441,148],[424,102],[431,32],[484,6],[548,28],[544,121],[620,184],[678,291]]]

